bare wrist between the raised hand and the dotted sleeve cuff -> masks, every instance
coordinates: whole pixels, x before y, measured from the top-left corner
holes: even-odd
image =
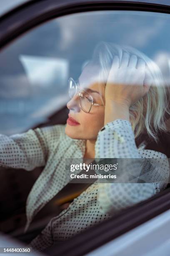
[[[130,114],[128,105],[113,100],[106,100],[105,104],[105,121],[104,125],[116,119],[123,119],[130,121]]]

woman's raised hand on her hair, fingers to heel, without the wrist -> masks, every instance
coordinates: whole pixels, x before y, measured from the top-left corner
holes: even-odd
[[[147,94],[150,84],[145,84],[145,61],[136,55],[124,53],[119,67],[119,58],[115,56],[105,87],[105,101],[130,107]]]

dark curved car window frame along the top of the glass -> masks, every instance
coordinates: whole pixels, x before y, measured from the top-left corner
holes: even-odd
[[[63,15],[95,10],[170,13],[170,5],[116,0],[32,0],[0,17],[0,51],[28,30]]]

